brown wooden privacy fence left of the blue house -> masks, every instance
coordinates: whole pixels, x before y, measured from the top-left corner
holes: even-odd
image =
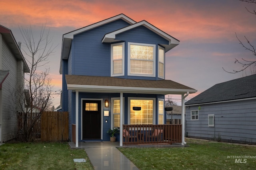
[[[27,123],[30,125],[39,113],[28,113]],[[18,131],[22,132],[24,126],[24,113],[18,112]],[[44,111],[36,120],[32,133],[41,141],[68,141],[68,112]]]

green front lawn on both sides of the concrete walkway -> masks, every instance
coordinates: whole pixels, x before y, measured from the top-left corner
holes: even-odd
[[[227,156],[256,156],[256,146],[186,139],[185,148],[119,148],[140,170],[255,170],[256,159],[235,163]],[[75,163],[74,158],[86,162]],[[242,159],[243,161],[243,159]],[[6,143],[0,146],[0,170],[93,170],[84,149],[68,143]]]

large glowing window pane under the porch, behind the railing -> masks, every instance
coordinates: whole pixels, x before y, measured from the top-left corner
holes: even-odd
[[[141,107],[141,110],[133,110],[132,107]],[[153,124],[154,100],[130,99],[130,124],[152,125]],[[129,123],[129,122],[128,122]]]

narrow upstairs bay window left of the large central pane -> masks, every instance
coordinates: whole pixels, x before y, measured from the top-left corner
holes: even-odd
[[[111,45],[111,75],[124,75],[124,43]]]

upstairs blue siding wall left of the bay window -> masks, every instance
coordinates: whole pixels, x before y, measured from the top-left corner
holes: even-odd
[[[101,41],[106,33],[127,25],[125,21],[117,20],[75,35],[72,74],[110,76],[110,44]]]

